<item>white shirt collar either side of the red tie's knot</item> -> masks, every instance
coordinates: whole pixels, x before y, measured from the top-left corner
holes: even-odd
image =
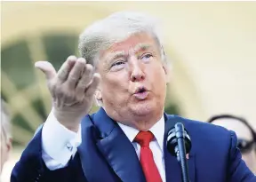
[[[118,123],[118,122],[117,122]],[[137,136],[139,133],[139,130],[132,128],[131,126],[124,125],[123,123],[118,123],[120,128],[124,131],[124,134],[126,137],[133,142],[133,139]],[[164,115],[161,117],[161,119],[156,122],[150,129],[160,146],[162,152],[164,152]]]

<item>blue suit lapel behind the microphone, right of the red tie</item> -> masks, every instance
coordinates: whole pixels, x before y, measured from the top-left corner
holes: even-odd
[[[182,182],[182,174],[180,170],[180,163],[177,161],[176,157],[172,156],[167,151],[166,138],[168,131],[173,127],[173,123],[183,123],[184,127],[189,131],[186,122],[181,117],[176,117],[174,115],[165,115],[165,133],[164,133],[164,164],[165,164],[165,176],[166,182]],[[193,138],[191,138],[192,140]],[[193,154],[193,146],[188,155],[188,176],[190,182],[195,182],[195,154]]]

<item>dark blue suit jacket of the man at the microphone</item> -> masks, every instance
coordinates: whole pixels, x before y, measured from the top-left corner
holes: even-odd
[[[166,131],[172,123],[183,123],[192,140],[188,172],[190,182],[256,182],[236,148],[233,131],[165,115]],[[41,130],[29,142],[12,170],[11,182],[145,182],[137,154],[118,124],[105,111],[86,115],[82,122],[82,144],[68,167],[48,170],[42,160]],[[181,182],[180,164],[164,145],[167,182]]]

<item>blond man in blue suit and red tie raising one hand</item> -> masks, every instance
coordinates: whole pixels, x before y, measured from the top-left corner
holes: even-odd
[[[52,113],[12,171],[12,182],[179,182],[167,152],[172,123],[192,140],[190,181],[255,181],[232,131],[164,114],[168,64],[154,19],[116,12],[84,30],[79,50],[46,75]],[[102,107],[88,115],[94,98]],[[84,116],[85,115],[85,116]],[[78,147],[77,147],[78,146]]]

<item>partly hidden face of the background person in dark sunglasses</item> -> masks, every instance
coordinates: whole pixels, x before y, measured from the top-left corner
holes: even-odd
[[[219,119],[213,122],[214,124],[223,126],[230,131],[235,131],[236,136],[239,139],[246,141],[252,141],[252,134],[248,127],[235,119]],[[241,150],[242,151],[242,150]],[[252,148],[244,153],[242,153],[244,162],[247,166],[256,173],[256,152]]]

